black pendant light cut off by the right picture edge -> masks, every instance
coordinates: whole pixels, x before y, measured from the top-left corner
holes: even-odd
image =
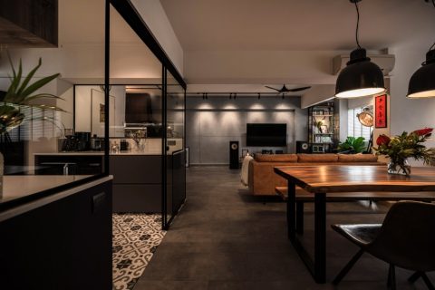
[[[426,1],[428,2],[428,1]],[[432,0],[435,7],[435,0]],[[421,63],[418,69],[411,76],[408,86],[407,97],[410,99],[434,98],[435,97],[435,43],[430,46],[426,53],[426,62]]]

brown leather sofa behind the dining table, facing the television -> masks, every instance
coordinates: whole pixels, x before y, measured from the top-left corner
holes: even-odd
[[[255,196],[275,196],[275,187],[286,187],[286,180],[274,167],[297,165],[381,165],[372,154],[256,154],[249,163],[248,188]]]

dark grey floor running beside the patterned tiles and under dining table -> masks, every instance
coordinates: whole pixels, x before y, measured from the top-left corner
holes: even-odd
[[[248,195],[239,171],[191,167],[188,201],[140,277],[134,290],[153,289],[386,289],[387,265],[364,255],[339,286],[333,276],[357,247],[329,229],[327,283],[317,285],[286,237],[285,203]],[[388,204],[377,211],[359,203],[327,206],[327,224],[381,222]],[[307,208],[305,236],[312,234]],[[426,289],[406,282],[411,272],[398,269],[398,289]],[[432,281],[435,276],[430,275]]]

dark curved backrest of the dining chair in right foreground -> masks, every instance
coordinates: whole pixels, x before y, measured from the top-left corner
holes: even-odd
[[[400,201],[392,205],[367,251],[402,268],[435,270],[435,204]]]

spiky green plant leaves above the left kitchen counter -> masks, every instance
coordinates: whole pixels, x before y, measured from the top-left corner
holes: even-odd
[[[44,77],[36,82],[30,83],[34,77],[34,73],[42,65],[42,59],[39,59],[38,65],[27,74],[26,77],[23,76],[23,66],[20,59],[18,65],[18,70],[14,69],[14,64],[12,63],[11,57],[9,56],[9,62],[12,67],[12,77],[10,77],[11,84],[2,97],[0,97],[0,134],[21,125],[24,120],[31,119],[35,120],[32,116],[25,116],[21,109],[24,107],[34,107],[42,110],[52,110],[52,111],[63,111],[63,109],[54,106],[46,105],[44,103],[38,102],[42,99],[54,99],[63,100],[62,98],[55,96],[51,93],[35,93],[37,90],[41,89],[45,84],[52,82],[55,78],[59,76],[59,73],[54,73],[53,75]],[[53,121],[53,118],[43,117],[43,121]]]

